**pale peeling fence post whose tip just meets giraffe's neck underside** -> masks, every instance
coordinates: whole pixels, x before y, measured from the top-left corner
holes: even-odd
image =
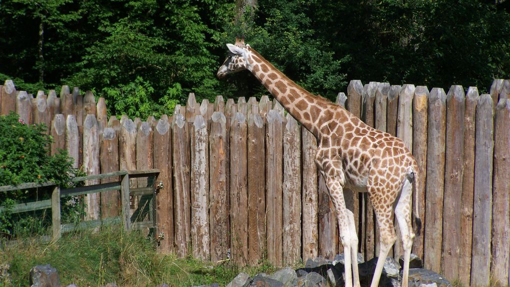
[[[287,114],[283,157],[283,262],[301,259],[301,128]]]

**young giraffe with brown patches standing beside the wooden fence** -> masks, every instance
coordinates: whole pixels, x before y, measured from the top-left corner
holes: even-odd
[[[418,165],[402,140],[365,124],[343,107],[304,90],[265,60],[244,39],[227,44],[227,59],[218,69],[219,79],[249,70],[274,98],[318,140],[315,163],[325,179],[335,206],[345,255],[345,286],[360,286],[358,235],[354,215],[346,208],[343,189],[368,192],[379,228],[379,256],[371,287],[379,284],[386,256],[397,240],[393,213],[404,249],[402,286],[409,281],[409,260],[415,233],[411,223],[412,195],[418,200]],[[421,220],[415,205],[415,227]]]

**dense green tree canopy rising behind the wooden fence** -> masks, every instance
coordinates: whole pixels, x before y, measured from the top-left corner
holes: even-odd
[[[240,4],[241,3],[241,4]],[[510,75],[506,2],[1,0],[0,77],[93,90],[111,114],[170,113],[189,92],[260,96],[218,81],[237,35],[296,83],[334,98],[349,80],[486,89]],[[29,91],[35,92],[35,91]]]

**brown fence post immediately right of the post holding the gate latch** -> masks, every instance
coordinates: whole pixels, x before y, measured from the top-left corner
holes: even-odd
[[[184,114],[172,121],[172,154],[175,204],[175,251],[186,256],[191,248],[190,140]]]

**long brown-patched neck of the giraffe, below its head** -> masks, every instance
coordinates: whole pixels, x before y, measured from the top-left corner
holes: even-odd
[[[319,138],[324,123],[323,112],[333,103],[314,96],[276,69],[257,51],[251,51],[251,73],[259,79],[273,97],[316,138]]]

